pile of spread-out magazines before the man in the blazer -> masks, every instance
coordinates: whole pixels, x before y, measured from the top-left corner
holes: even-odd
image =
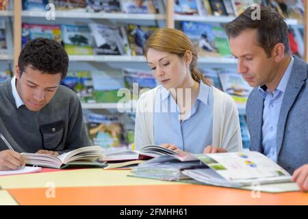
[[[198,184],[263,192],[298,191],[292,176],[256,151],[191,155],[188,159],[161,156],[133,168],[134,177],[173,180],[194,179]]]

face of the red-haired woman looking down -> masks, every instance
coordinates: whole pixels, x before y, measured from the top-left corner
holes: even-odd
[[[183,83],[190,76],[188,64],[178,55],[149,49],[146,60],[153,76],[167,90],[183,88]]]

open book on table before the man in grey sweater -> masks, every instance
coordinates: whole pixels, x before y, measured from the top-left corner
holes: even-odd
[[[40,154],[40,153],[22,153],[25,164],[44,166],[49,168],[62,169],[70,165],[78,166],[102,166],[97,162],[101,158],[101,146],[85,146],[75,149],[59,156]]]

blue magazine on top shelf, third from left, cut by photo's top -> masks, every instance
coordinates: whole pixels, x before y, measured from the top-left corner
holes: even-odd
[[[87,0],[88,12],[120,12],[120,0]]]

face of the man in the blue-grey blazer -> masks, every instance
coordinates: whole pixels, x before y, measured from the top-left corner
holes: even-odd
[[[277,74],[278,63],[274,55],[268,57],[257,44],[257,29],[247,29],[230,38],[231,53],[238,59],[238,73],[252,87],[271,83]]]

